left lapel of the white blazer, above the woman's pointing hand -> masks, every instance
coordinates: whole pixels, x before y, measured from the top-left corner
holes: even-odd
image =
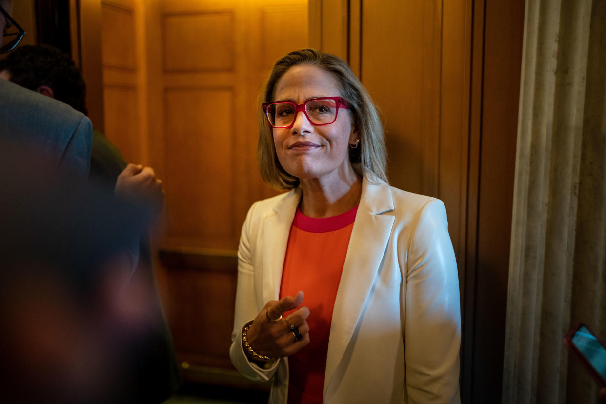
[[[279,297],[288,236],[300,199],[301,191],[297,188],[287,193],[264,214],[262,306],[268,300],[276,300]]]

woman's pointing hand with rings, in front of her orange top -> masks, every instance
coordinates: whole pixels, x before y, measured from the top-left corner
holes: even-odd
[[[281,320],[270,321],[279,319],[285,311],[297,308],[302,301],[303,292],[298,291],[295,296],[284,296],[280,300],[267,302],[247,332],[248,343],[256,353],[271,357],[290,356],[309,343],[307,307],[299,307]],[[295,337],[289,324],[294,324],[299,329],[300,339]]]

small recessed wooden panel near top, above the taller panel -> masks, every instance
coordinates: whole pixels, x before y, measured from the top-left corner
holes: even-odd
[[[165,72],[233,70],[234,23],[231,11],[165,13]]]

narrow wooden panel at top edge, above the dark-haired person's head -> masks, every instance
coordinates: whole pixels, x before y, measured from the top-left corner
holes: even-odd
[[[134,71],[135,18],[134,10],[124,5],[101,2],[102,58],[105,68]]]

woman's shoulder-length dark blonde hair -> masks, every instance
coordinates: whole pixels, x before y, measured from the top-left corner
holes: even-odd
[[[387,182],[387,151],[381,119],[368,91],[341,58],[315,49],[295,50],[278,59],[264,87],[259,93],[259,144],[257,159],[261,167],[261,177],[271,187],[292,189],[299,185],[299,179],[288,174],[278,160],[271,127],[261,108],[263,102],[273,101],[276,84],[284,73],[296,65],[311,65],[330,73],[337,82],[339,95],[350,104],[349,111],[360,139],[357,148],[350,148],[352,164],[359,163],[364,176]]]

